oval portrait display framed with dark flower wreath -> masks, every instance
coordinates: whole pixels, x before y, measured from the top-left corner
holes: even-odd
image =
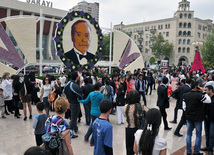
[[[93,68],[101,57],[102,30],[95,18],[83,11],[70,12],[61,19],[54,41],[57,55],[72,70]]]

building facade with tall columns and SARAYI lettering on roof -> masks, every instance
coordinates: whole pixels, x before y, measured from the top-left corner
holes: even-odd
[[[47,1],[46,1],[47,2]],[[49,2],[51,4],[52,2]],[[56,56],[56,50],[54,46],[53,37],[55,35],[56,24],[64,17],[68,11],[59,10],[52,8],[52,5],[35,3],[35,1],[27,0],[26,2],[20,2],[17,0],[0,0],[0,20],[13,17],[13,16],[34,16],[36,18],[40,17],[40,10],[42,9],[43,17],[45,18],[43,25],[43,36],[42,36],[42,48],[43,62],[57,62],[61,63],[58,56]],[[15,46],[17,43],[13,38],[10,31],[7,29],[7,26],[4,22],[1,22],[3,27],[6,29],[6,32],[9,34],[12,42]],[[36,34],[36,59],[39,59],[39,33],[40,33],[40,22],[37,22],[37,34]],[[18,48],[17,48],[18,49]]]

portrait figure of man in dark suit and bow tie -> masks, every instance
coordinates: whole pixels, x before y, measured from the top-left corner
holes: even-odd
[[[94,58],[94,55],[88,52],[90,46],[90,27],[84,20],[76,21],[71,27],[71,39],[73,49],[65,53],[65,56],[76,65],[84,65]]]

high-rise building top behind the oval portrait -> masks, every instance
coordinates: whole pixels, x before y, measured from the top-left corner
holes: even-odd
[[[69,10],[71,11],[84,11],[89,13],[99,23],[99,3],[88,3],[85,0],[79,2],[76,6]]]

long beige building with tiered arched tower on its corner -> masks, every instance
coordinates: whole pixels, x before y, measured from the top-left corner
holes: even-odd
[[[213,23],[210,19],[194,17],[194,11],[190,10],[190,2],[179,2],[178,10],[173,18],[142,22],[130,25],[115,25],[114,29],[124,31],[136,42],[142,52],[144,60],[154,57],[152,54],[152,42],[154,36],[161,34],[164,39],[174,45],[169,64],[191,64],[194,60],[195,48],[193,41],[204,41],[207,34],[212,30]]]

